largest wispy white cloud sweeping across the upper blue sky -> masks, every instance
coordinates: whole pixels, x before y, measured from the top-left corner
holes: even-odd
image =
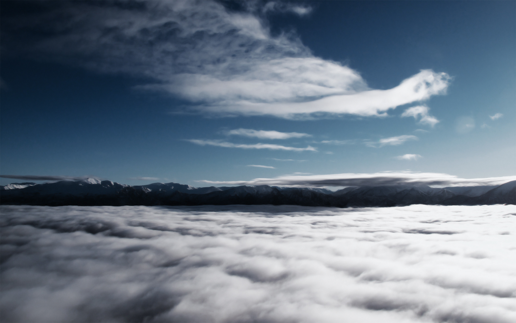
[[[272,36],[255,7],[228,10],[223,3],[202,1],[49,3],[3,19],[3,40],[7,48],[25,47],[38,58],[153,80],[138,88],[166,91],[189,101],[189,111],[206,115],[385,116],[397,106],[446,93],[449,75],[432,70],[391,89],[371,89],[356,70],[315,57],[294,33]],[[283,3],[265,7],[310,11]],[[10,45],[21,39],[20,30],[33,41]]]

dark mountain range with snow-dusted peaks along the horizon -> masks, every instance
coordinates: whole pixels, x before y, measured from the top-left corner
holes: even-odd
[[[431,188],[363,186],[337,192],[319,188],[261,186],[195,188],[178,183],[129,186],[84,179],[55,183],[12,183],[0,187],[1,204],[26,205],[302,205],[390,207],[411,204],[516,204],[516,181],[500,186]]]

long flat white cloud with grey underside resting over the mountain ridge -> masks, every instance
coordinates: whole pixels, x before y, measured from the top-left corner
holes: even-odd
[[[418,173],[410,171],[390,171],[373,174],[328,174],[311,176],[278,176],[275,178],[255,178],[238,181],[209,181],[199,182],[211,184],[232,185],[270,185],[292,187],[324,187],[324,186],[378,186],[378,185],[411,185],[411,186],[479,186],[500,185],[516,176],[488,177],[488,178],[458,178],[457,176],[442,173]]]

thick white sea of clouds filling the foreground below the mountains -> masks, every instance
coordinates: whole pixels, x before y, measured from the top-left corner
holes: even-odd
[[[516,206],[1,207],[4,322],[515,322]]]

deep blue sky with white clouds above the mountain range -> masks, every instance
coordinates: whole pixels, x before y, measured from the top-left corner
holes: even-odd
[[[513,1],[0,9],[2,175],[516,175]]]

